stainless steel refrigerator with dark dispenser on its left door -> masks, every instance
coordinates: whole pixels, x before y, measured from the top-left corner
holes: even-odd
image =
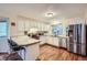
[[[87,25],[68,25],[67,35],[69,36],[67,50],[76,54],[87,55]]]

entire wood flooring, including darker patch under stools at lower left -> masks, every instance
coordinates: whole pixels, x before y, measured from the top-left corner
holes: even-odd
[[[21,58],[17,53],[0,53],[0,61],[21,61]],[[87,56],[77,55],[51,45],[43,45],[40,47],[40,56],[36,61],[87,61]]]

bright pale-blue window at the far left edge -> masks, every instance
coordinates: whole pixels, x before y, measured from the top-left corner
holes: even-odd
[[[7,21],[0,21],[0,36],[7,36]]]

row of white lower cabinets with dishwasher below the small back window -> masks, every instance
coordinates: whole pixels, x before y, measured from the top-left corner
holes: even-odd
[[[47,43],[47,44],[58,46],[58,47],[59,46],[67,47],[66,46],[66,39],[64,39],[64,37],[44,35],[44,36],[41,36],[40,40],[42,41],[40,44]]]

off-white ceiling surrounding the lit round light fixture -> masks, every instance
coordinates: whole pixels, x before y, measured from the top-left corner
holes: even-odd
[[[0,3],[0,17],[23,15],[40,20],[84,17],[86,10],[86,3]],[[52,18],[44,17],[50,11],[54,12],[55,15]]]

